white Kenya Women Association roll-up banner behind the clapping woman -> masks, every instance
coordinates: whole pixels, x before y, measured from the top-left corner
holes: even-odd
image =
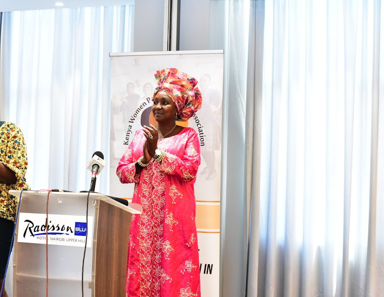
[[[133,184],[121,184],[118,161],[136,130],[150,123],[157,70],[177,68],[195,77],[203,102],[182,126],[199,135],[201,165],[195,183],[201,295],[219,296],[221,126],[223,51],[111,53],[110,194],[132,199]]]

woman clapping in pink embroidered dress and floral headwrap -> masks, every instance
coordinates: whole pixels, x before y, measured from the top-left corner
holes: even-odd
[[[194,183],[200,165],[195,130],[176,125],[201,107],[197,80],[174,69],[157,71],[152,112],[158,126],[136,132],[117,167],[135,183],[141,215],[131,223],[127,296],[200,296]]]

